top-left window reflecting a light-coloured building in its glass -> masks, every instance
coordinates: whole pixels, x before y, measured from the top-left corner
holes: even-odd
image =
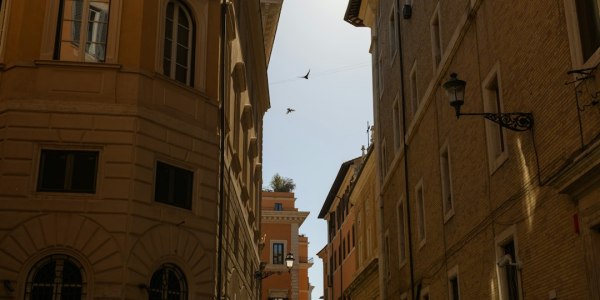
[[[54,59],[104,62],[110,0],[61,0]]]

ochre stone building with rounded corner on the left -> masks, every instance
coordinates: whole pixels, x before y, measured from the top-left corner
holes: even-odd
[[[258,299],[280,8],[0,1],[0,299]]]

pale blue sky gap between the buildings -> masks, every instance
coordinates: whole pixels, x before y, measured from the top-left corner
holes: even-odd
[[[312,299],[323,295],[317,252],[327,243],[327,224],[319,212],[341,164],[367,147],[373,124],[370,30],[344,21],[347,4],[284,0],[268,69],[263,185],[276,173],[294,180],[296,207],[310,212],[299,231],[314,259]],[[299,78],[309,69],[308,79]]]

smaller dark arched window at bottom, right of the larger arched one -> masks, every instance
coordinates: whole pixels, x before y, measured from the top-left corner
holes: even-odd
[[[150,279],[149,300],[186,300],[187,282],[181,270],[173,264],[164,264]]]

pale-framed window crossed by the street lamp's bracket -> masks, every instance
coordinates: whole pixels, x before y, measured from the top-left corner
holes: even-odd
[[[496,85],[498,91],[496,95],[492,95],[493,89],[491,87]],[[481,90],[483,93],[483,109],[485,112],[501,113],[504,111],[503,97],[502,97],[502,80],[500,76],[499,64],[496,64],[492,70],[488,73],[481,84]],[[490,120],[485,120],[485,133],[488,150],[488,164],[490,174],[493,174],[507,159],[508,159],[508,139],[506,136],[505,128],[502,128],[499,124],[496,124]],[[499,144],[504,144],[502,150],[499,150]]]

